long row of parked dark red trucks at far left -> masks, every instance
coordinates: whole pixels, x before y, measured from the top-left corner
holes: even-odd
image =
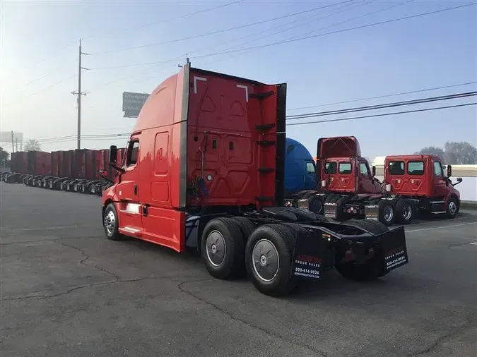
[[[117,155],[122,160],[125,149],[118,149]],[[114,181],[109,157],[109,149],[13,152],[10,171],[0,171],[0,181],[102,195]]]

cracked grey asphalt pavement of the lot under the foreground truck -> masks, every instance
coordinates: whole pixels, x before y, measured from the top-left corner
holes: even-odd
[[[285,298],[108,241],[100,198],[0,183],[0,355],[477,356],[477,215],[406,226],[410,263]],[[473,244],[474,243],[474,244]]]

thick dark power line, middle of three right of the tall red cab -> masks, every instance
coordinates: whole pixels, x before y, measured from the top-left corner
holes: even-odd
[[[429,102],[440,102],[442,100],[473,97],[476,95],[477,95],[477,92],[463,92],[463,93],[457,93],[454,95],[441,95],[440,97],[428,97],[428,98],[421,98],[421,99],[406,100],[404,102],[385,103],[385,104],[377,104],[377,105],[368,105],[366,107],[356,107],[356,108],[338,109],[338,110],[330,110],[330,111],[318,111],[315,113],[307,113],[307,114],[290,115],[290,116],[287,116],[286,119],[297,120],[297,119],[315,118],[317,116],[348,114],[348,113],[354,113],[356,111],[368,111],[368,110],[387,109],[387,108],[394,108],[394,107],[403,107],[406,105],[416,105],[416,104],[423,104],[423,103],[429,103]]]

